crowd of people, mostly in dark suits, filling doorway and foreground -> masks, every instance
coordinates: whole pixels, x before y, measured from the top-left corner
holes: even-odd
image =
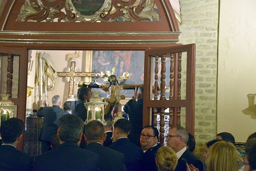
[[[64,110],[60,97],[53,96],[52,107],[44,103],[38,110],[44,124],[39,136],[41,155],[34,158],[16,149],[23,136],[22,120],[2,122],[0,171],[256,171],[256,133],[247,139],[244,158],[230,133],[218,133],[206,143],[202,162],[193,154],[195,138],[185,128],[169,128],[167,147],[159,144],[157,128],[142,128],[136,118],[142,117],[143,88],[136,93],[139,100],[131,99],[124,108],[129,119],[113,123],[113,107],[105,117],[107,125],[96,120],[84,125],[86,116],[79,109],[90,100],[90,89],[80,88],[79,101],[65,102]]]

